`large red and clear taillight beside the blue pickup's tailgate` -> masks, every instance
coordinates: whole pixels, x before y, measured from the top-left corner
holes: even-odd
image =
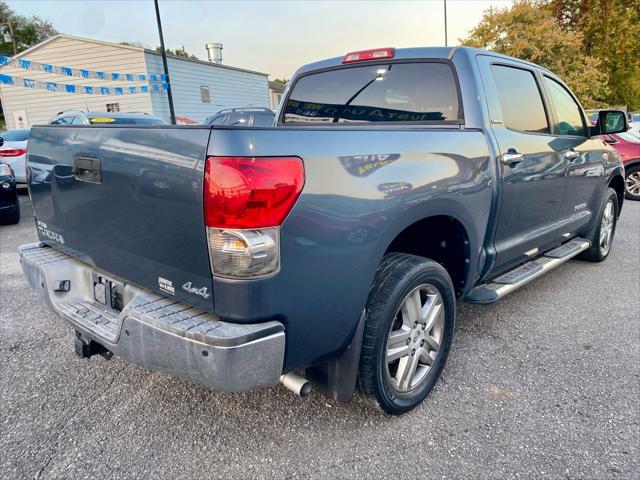
[[[304,184],[298,157],[209,157],[204,211],[211,269],[256,278],[280,267],[280,225]]]

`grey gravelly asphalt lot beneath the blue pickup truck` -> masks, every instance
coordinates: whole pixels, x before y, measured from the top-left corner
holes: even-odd
[[[571,261],[459,305],[429,398],[402,417],[277,386],[226,394],[81,360],[27,285],[23,220],[0,227],[2,478],[640,478],[640,205],[608,261]]]

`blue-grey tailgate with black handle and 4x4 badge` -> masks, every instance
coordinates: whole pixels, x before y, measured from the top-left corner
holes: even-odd
[[[124,280],[212,310],[202,188],[209,133],[207,127],[34,127],[28,170],[40,239]],[[189,282],[209,294],[183,290]]]

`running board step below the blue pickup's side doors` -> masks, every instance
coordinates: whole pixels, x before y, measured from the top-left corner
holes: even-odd
[[[557,266],[562,265],[590,246],[591,243],[588,240],[584,238],[574,238],[558,248],[549,250],[541,257],[494,278],[489,283],[477,286],[469,292],[465,300],[469,303],[496,302],[506,294],[544,275],[549,270],[553,270]]]

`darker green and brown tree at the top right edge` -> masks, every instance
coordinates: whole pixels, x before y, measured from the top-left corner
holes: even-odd
[[[640,1],[549,0],[560,26],[582,34],[586,55],[609,77],[606,103],[640,110]]]

